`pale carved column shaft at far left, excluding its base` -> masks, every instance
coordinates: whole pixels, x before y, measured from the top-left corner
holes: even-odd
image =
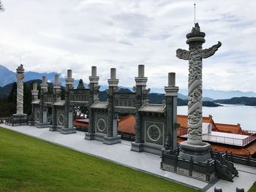
[[[21,64],[16,69],[16,77],[17,77],[17,108],[16,114],[23,115],[23,79],[24,79],[24,69]]]

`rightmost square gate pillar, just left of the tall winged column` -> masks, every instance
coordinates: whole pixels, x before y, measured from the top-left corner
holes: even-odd
[[[168,86],[165,87],[166,101],[166,137],[165,150],[177,149],[177,96],[178,87],[175,85],[176,74],[168,73]]]

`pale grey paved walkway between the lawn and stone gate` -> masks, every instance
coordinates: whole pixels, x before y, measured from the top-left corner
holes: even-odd
[[[0,124],[0,126],[203,191],[214,191],[216,186],[222,188],[222,191],[225,192],[236,191],[236,187],[243,187],[245,191],[248,191],[256,181],[255,167],[236,164],[239,177],[234,178],[233,183],[225,180],[206,183],[180,174],[163,171],[159,168],[161,162],[159,155],[133,152],[130,150],[131,142],[128,141],[122,140],[121,143],[116,145],[104,145],[99,141],[84,139],[84,132],[81,131],[76,134],[61,134],[58,131],[48,131],[48,128],[37,128],[35,126],[7,126],[4,124]]]

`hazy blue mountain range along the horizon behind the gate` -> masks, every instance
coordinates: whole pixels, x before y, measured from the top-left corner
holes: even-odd
[[[50,73],[39,73],[39,72],[25,72],[25,78],[24,82],[29,80],[37,80],[42,79],[42,76],[47,77],[48,82],[54,82],[54,76],[57,74],[56,72],[50,72]],[[7,93],[8,90],[10,90],[12,82],[16,81],[16,73],[10,71],[5,66],[0,65],[0,97],[1,94]],[[59,81],[62,83],[62,85],[65,84],[64,77],[59,77]],[[74,86],[76,87],[78,85],[79,80],[74,81]],[[84,83],[87,85],[86,83]],[[100,85],[100,91],[105,91],[105,89],[108,88],[108,85]],[[124,87],[121,87],[124,88]],[[132,88],[129,88],[132,90]],[[150,93],[165,93],[164,88],[151,88]],[[214,101],[216,99],[230,99],[233,97],[241,97],[241,96],[247,96],[247,97],[256,97],[255,92],[242,92],[242,91],[216,91],[212,89],[203,89],[203,101]],[[186,89],[180,89],[178,91],[178,98],[180,99],[187,99],[187,90]]]

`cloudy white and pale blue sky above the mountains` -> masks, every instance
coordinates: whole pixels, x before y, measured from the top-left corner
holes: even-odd
[[[97,66],[99,83],[108,85],[115,67],[119,85],[132,87],[138,65],[145,65],[148,88],[187,88],[188,61],[176,58],[187,49],[194,26],[189,0],[1,0],[0,64],[15,71],[58,72],[89,82]],[[256,91],[256,1],[197,0],[196,22],[206,33],[203,48],[222,42],[203,60],[203,88]]]

